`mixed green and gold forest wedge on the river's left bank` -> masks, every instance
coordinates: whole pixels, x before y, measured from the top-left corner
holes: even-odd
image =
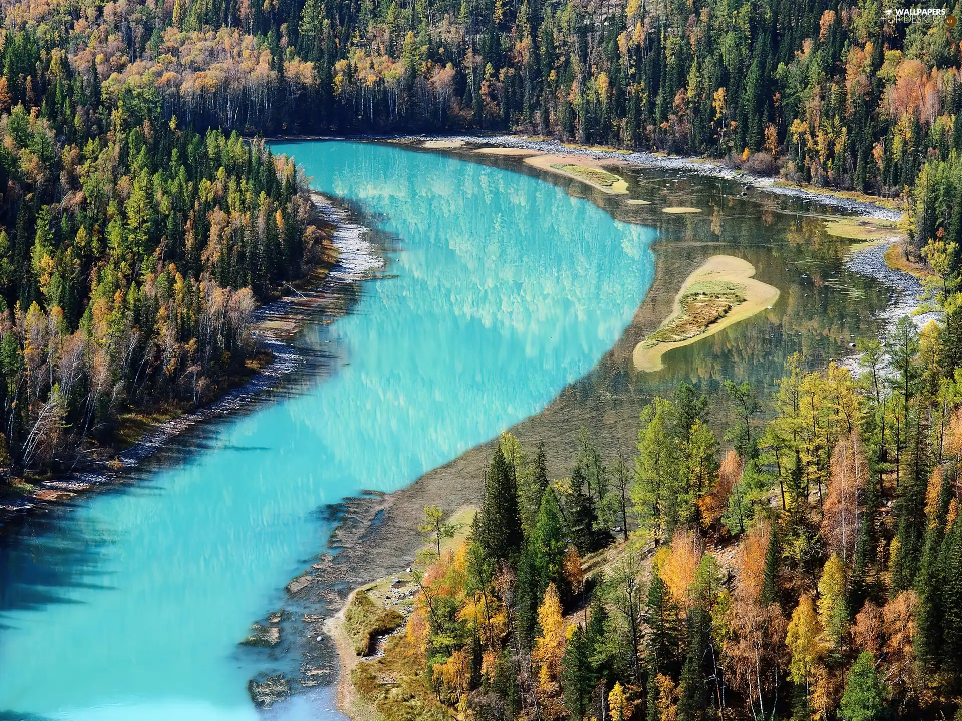
[[[125,416],[190,408],[249,373],[253,311],[317,263],[321,235],[293,162],[179,122],[152,87],[102,83],[103,56],[79,64],[89,50],[64,50],[47,24],[69,9],[7,10],[0,467],[12,478],[74,468],[128,440]]]

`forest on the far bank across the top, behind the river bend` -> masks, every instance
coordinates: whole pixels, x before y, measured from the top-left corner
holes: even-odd
[[[962,29],[878,0],[120,0],[5,6],[0,110],[199,131],[510,130],[898,197],[962,151]],[[155,125],[159,124],[154,122]],[[139,122],[136,118],[134,122]],[[43,162],[47,162],[44,159]]]

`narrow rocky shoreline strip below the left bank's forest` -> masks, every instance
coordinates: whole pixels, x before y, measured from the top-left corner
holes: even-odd
[[[365,251],[360,236],[367,231],[352,222],[349,213],[334,205],[326,196],[311,191],[322,220],[330,228],[328,242],[337,254],[327,256],[315,269],[305,275],[301,283],[316,282],[313,289],[288,285],[290,295],[259,306],[253,314],[251,333],[254,336],[254,356],[270,354],[265,365],[250,373],[240,384],[227,388],[204,406],[184,410],[164,420],[148,421],[138,439],[128,447],[117,450],[112,460],[101,460],[88,468],[38,481],[35,489],[10,498],[0,499],[0,533],[8,523],[29,517],[69,501],[79,494],[106,490],[130,481],[131,471],[152,457],[172,438],[190,431],[204,421],[223,418],[244,410],[260,395],[304,366],[306,357],[291,345],[291,339],[301,328],[321,314],[343,311],[337,293],[339,286],[362,280],[379,261]],[[326,255],[326,254],[325,254]],[[98,469],[96,465],[102,467]]]

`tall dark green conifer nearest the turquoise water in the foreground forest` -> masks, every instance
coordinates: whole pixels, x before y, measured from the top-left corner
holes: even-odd
[[[500,447],[485,481],[484,501],[474,522],[474,534],[488,558],[514,562],[523,534],[518,509],[518,486]]]

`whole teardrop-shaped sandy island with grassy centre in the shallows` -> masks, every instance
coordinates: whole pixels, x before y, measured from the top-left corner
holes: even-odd
[[[671,316],[635,346],[632,355],[641,371],[660,370],[672,348],[694,343],[770,308],[779,290],[757,281],[755,267],[732,256],[712,256],[685,280]]]

